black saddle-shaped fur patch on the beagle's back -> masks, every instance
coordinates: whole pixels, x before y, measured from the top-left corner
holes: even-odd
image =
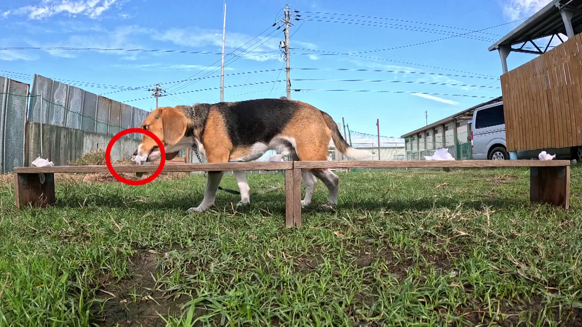
[[[297,111],[294,102],[282,99],[256,99],[221,102],[212,105],[225,119],[230,141],[235,147],[257,142],[269,143],[281,133]]]

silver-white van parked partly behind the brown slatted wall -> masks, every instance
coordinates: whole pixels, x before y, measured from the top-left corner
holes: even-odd
[[[471,144],[475,160],[509,160],[502,101],[475,109],[471,123]],[[556,158],[576,159],[578,162],[582,159],[582,147],[518,151],[517,159],[538,159],[541,151],[555,154]]]

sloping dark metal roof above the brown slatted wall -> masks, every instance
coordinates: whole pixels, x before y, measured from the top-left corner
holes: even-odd
[[[561,8],[569,8],[574,10],[574,12],[580,12],[582,10],[582,0],[554,0],[548,3],[548,5],[521,23],[513,31],[510,31],[499,41],[491,45],[489,51],[497,50],[504,45],[512,46],[514,44],[521,44],[558,33],[566,35],[562,15],[560,15]],[[580,32],[582,15],[574,15],[572,17],[572,27],[575,33]]]

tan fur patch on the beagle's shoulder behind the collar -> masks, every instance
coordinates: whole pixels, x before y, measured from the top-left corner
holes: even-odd
[[[228,162],[233,145],[228,136],[224,118],[215,108],[210,108],[208,112],[202,144],[208,162]]]

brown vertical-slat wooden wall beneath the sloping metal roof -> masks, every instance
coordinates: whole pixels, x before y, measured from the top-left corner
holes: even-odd
[[[582,145],[582,34],[501,76],[509,151]]]

